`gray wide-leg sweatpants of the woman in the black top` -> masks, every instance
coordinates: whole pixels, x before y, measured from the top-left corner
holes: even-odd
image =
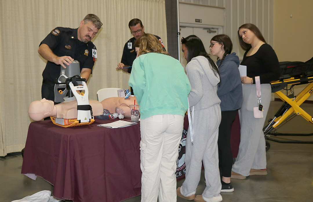
[[[258,106],[256,87],[242,85],[243,103],[240,109],[240,144],[239,152],[232,170],[248,176],[250,169],[266,168],[265,139],[263,134],[266,114],[271,99],[270,84],[261,84],[261,104],[263,118],[254,118],[253,107]]]

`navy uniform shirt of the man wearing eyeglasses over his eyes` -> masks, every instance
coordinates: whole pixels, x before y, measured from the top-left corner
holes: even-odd
[[[156,36],[156,35],[154,35],[154,36]],[[156,36],[156,38],[159,39],[163,49],[165,50],[162,39],[158,36]],[[123,63],[124,65],[132,66],[133,61],[136,59],[137,54],[135,51],[135,42],[136,42],[136,39],[135,39],[135,37],[133,37],[133,38],[129,39],[124,45],[123,55],[122,55],[122,59],[121,59],[121,63]],[[132,43],[131,49],[128,49],[128,43]],[[128,68],[127,70],[128,70],[128,73],[131,73],[131,67]]]

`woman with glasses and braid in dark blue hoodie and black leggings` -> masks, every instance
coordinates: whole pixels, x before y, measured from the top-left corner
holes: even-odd
[[[225,34],[215,35],[211,39],[212,55],[218,56],[218,70],[221,82],[217,95],[221,100],[222,119],[218,130],[218,157],[220,175],[222,176],[221,192],[232,192],[230,176],[233,166],[233,155],[230,149],[230,134],[232,123],[242,104],[242,87],[239,73],[239,58],[232,53],[233,43]]]

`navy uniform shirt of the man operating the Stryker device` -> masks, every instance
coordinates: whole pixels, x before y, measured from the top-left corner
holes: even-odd
[[[88,68],[92,71],[95,64],[95,58],[92,57],[92,49],[96,49],[96,47],[91,41],[84,43],[78,40],[77,30],[78,28],[57,27],[44,38],[40,45],[48,45],[52,52],[59,57],[70,56],[74,60],[78,60],[80,71],[83,68]],[[60,71],[61,65],[47,61],[42,76],[44,80],[54,82],[56,78],[59,78]]]

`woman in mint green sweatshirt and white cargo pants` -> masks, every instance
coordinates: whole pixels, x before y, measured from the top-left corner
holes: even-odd
[[[175,202],[176,159],[190,83],[152,34],[136,40],[129,85],[140,111],[141,201]]]

